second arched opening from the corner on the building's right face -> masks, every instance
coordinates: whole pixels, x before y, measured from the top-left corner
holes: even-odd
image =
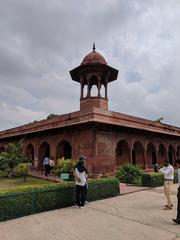
[[[132,164],[144,168],[144,148],[139,141],[133,145]]]

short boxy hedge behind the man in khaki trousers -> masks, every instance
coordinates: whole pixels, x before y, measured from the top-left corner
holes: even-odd
[[[144,187],[159,187],[164,184],[164,175],[162,173],[143,173],[142,174],[142,185]],[[174,171],[174,183],[178,182],[177,169]]]

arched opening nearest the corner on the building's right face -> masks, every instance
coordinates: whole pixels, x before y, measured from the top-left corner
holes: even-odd
[[[125,140],[121,140],[116,148],[116,166],[123,165],[130,162],[129,145]]]

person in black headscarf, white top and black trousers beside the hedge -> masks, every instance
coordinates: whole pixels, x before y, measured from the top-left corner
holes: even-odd
[[[86,172],[87,170],[84,166],[84,158],[80,157],[74,170],[74,178],[76,181],[76,204],[79,208],[83,208],[85,203]]]

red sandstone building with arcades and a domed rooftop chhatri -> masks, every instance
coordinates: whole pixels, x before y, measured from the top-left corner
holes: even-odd
[[[80,111],[2,131],[0,151],[23,139],[34,167],[45,156],[78,159],[83,154],[94,173],[112,173],[127,162],[148,169],[165,158],[171,163],[180,158],[180,128],[108,110],[108,84],[117,79],[118,70],[95,46],[70,75],[80,83]]]

